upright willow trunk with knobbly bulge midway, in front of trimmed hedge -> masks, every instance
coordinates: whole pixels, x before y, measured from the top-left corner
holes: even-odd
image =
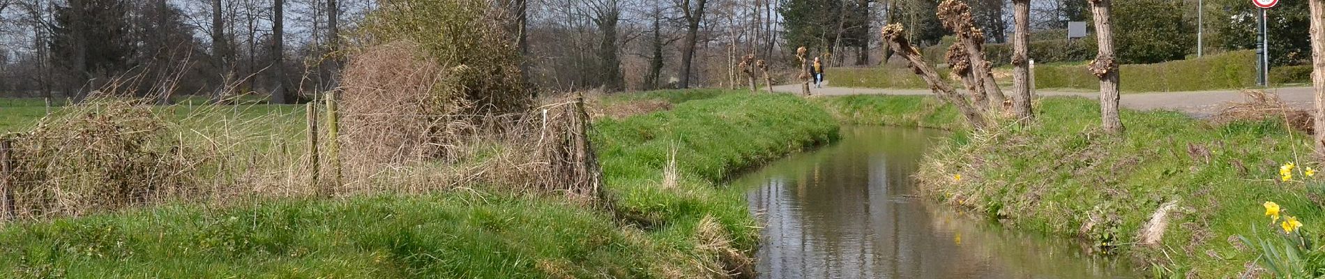
[[[1090,0],[1094,33],[1100,54],[1090,62],[1090,71],[1100,78],[1100,118],[1104,131],[1122,134],[1118,118],[1118,63],[1113,60],[1113,21],[1109,20],[1112,0]]]

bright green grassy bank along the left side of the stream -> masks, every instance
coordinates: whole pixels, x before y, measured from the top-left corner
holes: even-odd
[[[501,185],[419,196],[174,204],[5,225],[0,270],[12,278],[712,275],[739,260],[733,257],[749,255],[758,241],[743,189],[721,181],[827,141],[837,124],[791,95],[704,93],[674,100],[680,103],[670,111],[595,124],[592,139],[616,212],[513,194]],[[673,149],[677,182],[664,185]]]

